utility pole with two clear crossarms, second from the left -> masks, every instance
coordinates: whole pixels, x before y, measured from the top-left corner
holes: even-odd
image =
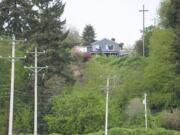
[[[47,69],[48,66],[45,67],[38,67],[38,54],[45,54],[45,51],[38,52],[37,47],[35,47],[35,52],[27,52],[29,54],[34,54],[35,60],[34,60],[34,67],[24,67],[26,69],[29,69],[30,71],[34,72],[34,135],[37,135],[37,127],[38,127],[38,94],[37,94],[37,82],[38,82],[38,72],[40,72],[43,69]]]

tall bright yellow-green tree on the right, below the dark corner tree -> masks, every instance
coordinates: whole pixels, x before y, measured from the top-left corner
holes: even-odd
[[[154,109],[167,107],[166,103],[171,102],[173,91],[171,87],[166,86],[175,78],[172,48],[174,39],[175,35],[172,30],[156,29],[150,41],[149,64],[145,70],[145,88],[152,94],[150,106]]]

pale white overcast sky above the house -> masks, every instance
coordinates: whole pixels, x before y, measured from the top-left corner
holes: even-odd
[[[146,26],[154,24],[161,0],[64,0],[64,17],[68,27],[80,34],[86,24],[94,26],[97,40],[112,37],[117,42],[132,46],[141,37],[142,5],[146,13]]]

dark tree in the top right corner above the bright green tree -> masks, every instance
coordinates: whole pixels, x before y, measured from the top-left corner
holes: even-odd
[[[175,52],[176,73],[180,73],[180,1],[164,0],[159,11],[160,23],[165,28],[173,28],[176,40],[173,44]]]

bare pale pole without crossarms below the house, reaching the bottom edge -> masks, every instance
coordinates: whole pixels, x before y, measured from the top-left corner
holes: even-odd
[[[108,135],[108,100],[109,100],[109,81],[110,78],[107,78],[106,83],[106,115],[105,115],[105,135]]]

